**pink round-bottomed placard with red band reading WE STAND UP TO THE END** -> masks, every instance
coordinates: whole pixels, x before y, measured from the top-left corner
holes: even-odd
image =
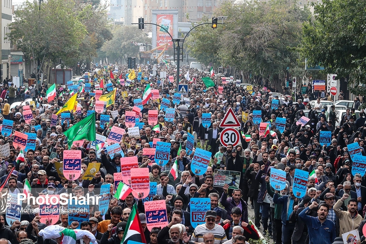
[[[131,188],[133,190],[132,195],[135,198],[143,199],[149,195],[150,181],[148,168],[131,169]]]

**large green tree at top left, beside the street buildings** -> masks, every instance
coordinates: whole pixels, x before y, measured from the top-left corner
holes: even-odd
[[[26,1],[15,11],[8,37],[32,59],[35,74],[45,71],[45,64],[50,67],[58,63],[59,58],[70,65],[69,57],[78,55],[83,39],[80,37],[84,37],[86,29],[75,18],[73,8],[71,1],[48,0],[39,10],[38,1]],[[40,60],[38,71],[37,60]]]

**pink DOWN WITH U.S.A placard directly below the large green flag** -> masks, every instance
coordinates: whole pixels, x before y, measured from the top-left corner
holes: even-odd
[[[68,180],[76,180],[81,175],[81,151],[64,150],[63,174]]]

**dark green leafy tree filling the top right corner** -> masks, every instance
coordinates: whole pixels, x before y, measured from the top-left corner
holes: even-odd
[[[303,26],[302,56],[330,74],[350,76],[352,93],[366,95],[366,12],[358,0],[323,0]],[[353,86],[356,86],[355,88]]]

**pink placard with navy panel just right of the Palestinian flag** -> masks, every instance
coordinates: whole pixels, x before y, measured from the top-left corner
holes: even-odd
[[[146,227],[150,231],[154,227],[164,228],[168,225],[167,204],[165,200],[144,202]]]

